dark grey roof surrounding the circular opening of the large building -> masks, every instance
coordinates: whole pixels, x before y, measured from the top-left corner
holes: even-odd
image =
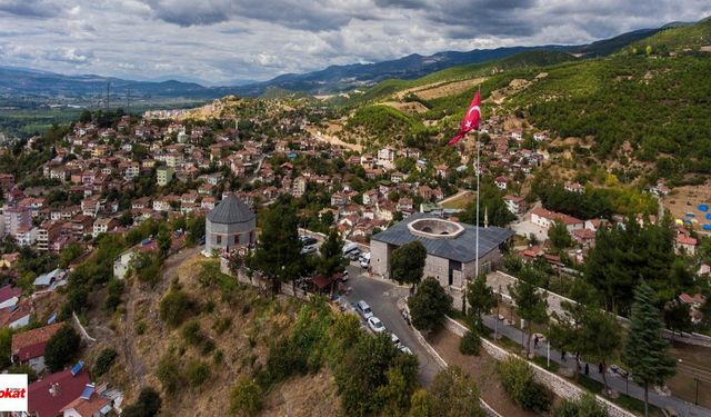
[[[440,218],[435,215],[414,214],[407,219],[393,225],[388,230],[383,230],[373,236],[371,240],[382,241],[385,244],[402,246],[413,240],[420,240],[427,252],[445,259],[452,259],[460,262],[470,262],[477,258],[477,227],[460,224],[464,231],[455,238],[449,239],[428,239],[423,236],[413,235],[408,229],[408,225],[417,219]],[[479,228],[479,257],[483,257],[491,250],[497,249],[499,245],[507,241],[513,236],[513,231],[500,227]]]

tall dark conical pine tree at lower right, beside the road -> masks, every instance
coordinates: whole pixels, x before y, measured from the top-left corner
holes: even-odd
[[[654,307],[654,291],[642,281],[634,291],[630,329],[622,360],[632,379],[644,388],[644,416],[649,416],[649,386],[662,385],[675,373],[669,342],[662,338],[664,322]]]

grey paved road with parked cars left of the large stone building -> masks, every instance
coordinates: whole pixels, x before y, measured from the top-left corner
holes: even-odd
[[[371,306],[373,314],[385,325],[385,329],[398,335],[400,340],[418,356],[420,384],[430,386],[434,380],[434,375],[440,370],[439,364],[417,341],[412,329],[402,318],[397,305],[399,298],[409,294],[409,289],[369,278],[367,274],[363,274],[362,268],[356,266],[356,262],[348,267],[348,275],[350,279],[347,286],[351,287],[352,291],[344,298],[350,304],[364,300]]]

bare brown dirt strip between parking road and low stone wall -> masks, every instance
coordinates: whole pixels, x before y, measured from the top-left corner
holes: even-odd
[[[434,350],[450,365],[457,365],[471,375],[479,386],[481,398],[497,413],[507,417],[533,417],[534,413],[527,413],[517,407],[503,390],[497,374],[497,360],[483,349],[479,356],[464,356],[459,351],[461,338],[453,332],[442,329],[429,340]]]

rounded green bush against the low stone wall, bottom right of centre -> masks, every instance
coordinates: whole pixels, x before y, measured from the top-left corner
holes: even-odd
[[[501,385],[513,403],[529,411],[547,411],[550,393],[533,381],[533,368],[523,359],[509,357],[497,365]]]

